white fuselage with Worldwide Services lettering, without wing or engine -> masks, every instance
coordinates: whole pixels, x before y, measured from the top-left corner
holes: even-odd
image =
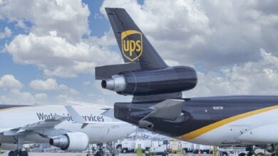
[[[73,123],[72,119],[63,121],[55,128],[65,129],[73,132],[86,133],[89,143],[105,143],[119,138],[125,138],[133,133],[135,126],[119,121],[115,118],[101,116],[105,110],[96,109],[91,106],[73,106],[73,108],[87,122],[91,122],[85,128],[82,123]],[[13,129],[43,121],[57,114],[69,116],[64,106],[23,106],[16,108],[4,108],[0,110],[0,129]],[[48,138],[43,138],[34,133],[26,135],[25,143],[48,143]],[[0,143],[15,143],[13,136],[0,135]]]

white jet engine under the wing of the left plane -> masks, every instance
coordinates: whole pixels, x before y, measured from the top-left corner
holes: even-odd
[[[85,133],[66,133],[51,138],[49,143],[50,145],[60,147],[61,150],[83,151],[88,147],[89,138]]]

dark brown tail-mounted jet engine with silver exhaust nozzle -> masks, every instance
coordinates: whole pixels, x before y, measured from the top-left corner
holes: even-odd
[[[197,74],[192,67],[176,66],[122,72],[101,82],[104,89],[118,94],[165,94],[193,89]]]

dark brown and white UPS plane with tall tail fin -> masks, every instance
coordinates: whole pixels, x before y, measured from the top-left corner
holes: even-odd
[[[182,98],[197,84],[195,69],[166,65],[125,9],[105,10],[125,64],[96,67],[96,79],[133,96],[115,103],[115,118],[191,143],[246,146],[249,154],[257,145],[278,155],[278,96]]]

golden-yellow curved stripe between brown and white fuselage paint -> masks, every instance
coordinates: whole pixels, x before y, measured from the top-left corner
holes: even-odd
[[[178,138],[182,139],[182,140],[192,140],[194,138],[197,138],[198,136],[204,134],[204,133],[207,133],[209,132],[210,130],[214,130],[215,128],[219,128],[220,126],[223,126],[227,123],[231,123],[232,121],[237,121],[237,120],[240,120],[242,118],[247,118],[249,116],[253,116],[253,115],[256,115],[258,113],[263,113],[265,111],[272,111],[273,109],[277,109],[278,108],[278,105],[276,106],[269,106],[269,107],[266,107],[266,108],[261,108],[261,109],[257,109],[255,111],[249,111],[247,113],[242,113],[242,114],[239,114],[237,116],[232,116],[230,118],[225,118],[224,120],[222,121],[217,121],[216,123],[212,123],[208,126],[205,126],[205,127],[202,127],[202,128],[199,128],[197,130],[194,130],[190,133],[187,133],[185,135],[182,135]]]

